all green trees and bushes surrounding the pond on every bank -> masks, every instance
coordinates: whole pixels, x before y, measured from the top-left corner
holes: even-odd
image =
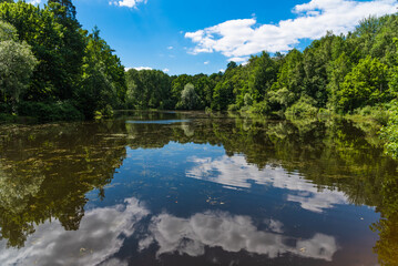
[[[263,52],[211,75],[125,71],[71,0],[0,0],[0,123],[111,117],[113,110],[343,115],[377,121],[398,157],[398,14],[369,17],[304,51]]]

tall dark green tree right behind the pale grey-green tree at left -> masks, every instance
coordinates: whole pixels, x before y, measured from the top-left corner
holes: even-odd
[[[68,71],[65,58],[60,53],[63,43],[63,27],[48,7],[41,9],[22,1],[0,4],[0,19],[17,28],[19,39],[32,48],[39,61],[24,100],[44,101],[62,99]],[[68,81],[68,79],[67,79]]]

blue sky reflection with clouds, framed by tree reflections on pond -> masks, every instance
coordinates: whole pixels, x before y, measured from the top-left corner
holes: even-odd
[[[0,265],[377,264],[373,205],[354,205],[337,183],[317,184],[283,164],[259,166],[211,139],[193,141],[203,121],[178,121],[157,125],[175,134],[167,137],[151,124],[98,132],[118,150],[125,141],[125,152],[110,183],[85,193],[78,228],[67,231],[54,214],[34,224],[20,248],[0,241]]]

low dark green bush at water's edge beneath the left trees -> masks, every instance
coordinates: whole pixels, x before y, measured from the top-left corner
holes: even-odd
[[[21,116],[33,116],[39,122],[51,121],[75,121],[82,120],[83,115],[70,102],[20,102],[18,114]]]

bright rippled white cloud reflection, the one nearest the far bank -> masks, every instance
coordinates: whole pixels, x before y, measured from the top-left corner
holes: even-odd
[[[322,213],[336,204],[346,204],[343,192],[323,190],[322,192],[299,174],[288,174],[283,167],[266,166],[258,170],[246,162],[243,155],[226,155],[217,158],[191,157],[190,162],[196,163],[186,171],[186,176],[205,180],[225,185],[225,187],[251,188],[252,183],[258,185],[272,185],[277,188],[288,190],[287,201],[297,202],[304,209]]]

